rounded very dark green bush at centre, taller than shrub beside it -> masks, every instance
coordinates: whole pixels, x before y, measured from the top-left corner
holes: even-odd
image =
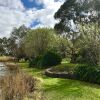
[[[61,56],[55,52],[48,51],[43,55],[42,66],[55,66],[60,64],[62,61]]]

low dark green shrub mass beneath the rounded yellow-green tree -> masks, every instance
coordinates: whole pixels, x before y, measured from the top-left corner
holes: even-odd
[[[30,67],[51,67],[61,63],[61,56],[55,52],[48,51],[42,56],[37,56],[29,61]]]

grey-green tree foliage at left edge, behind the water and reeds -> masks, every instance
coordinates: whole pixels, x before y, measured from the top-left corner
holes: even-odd
[[[14,56],[18,59],[26,57],[23,38],[27,34],[27,30],[22,25],[19,28],[14,28],[9,38],[0,38],[0,55]]]

